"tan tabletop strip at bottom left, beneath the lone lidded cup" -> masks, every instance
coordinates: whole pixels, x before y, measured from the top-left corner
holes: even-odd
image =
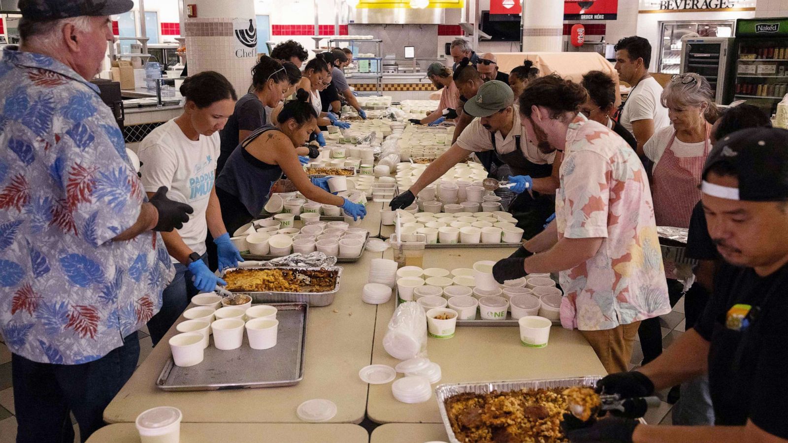
[[[281,424],[281,423],[181,423],[181,443],[215,443],[216,441],[299,441],[323,443],[344,441],[366,443],[369,434],[361,426],[349,424]],[[134,423],[118,423],[97,430],[89,443],[139,443]]]

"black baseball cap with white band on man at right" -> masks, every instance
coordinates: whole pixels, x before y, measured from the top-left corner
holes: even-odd
[[[706,182],[709,169],[725,163],[736,171],[738,188]],[[746,128],[718,140],[703,167],[704,194],[731,200],[788,200],[788,130]]]

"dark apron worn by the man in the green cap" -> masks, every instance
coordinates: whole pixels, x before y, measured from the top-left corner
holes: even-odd
[[[552,175],[552,165],[539,165],[531,162],[520,148],[520,136],[515,136],[515,151],[507,154],[500,154],[496,146],[495,134],[490,134],[492,151],[501,162],[506,163],[514,175],[527,175],[531,178],[545,178]],[[509,207],[511,215],[517,219],[517,226],[522,228],[522,238],[530,239],[541,233],[544,229],[545,221],[556,212],[555,195],[540,194],[533,192],[531,197],[529,192],[522,192]]]

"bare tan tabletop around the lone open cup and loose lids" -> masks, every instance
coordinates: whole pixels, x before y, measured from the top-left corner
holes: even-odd
[[[502,259],[513,251],[514,248],[427,249],[423,267],[470,268],[479,260]],[[391,255],[390,249],[384,253],[387,258]],[[383,348],[386,325],[393,311],[393,300],[377,309],[373,364],[394,367],[399,363]],[[541,349],[522,346],[517,326],[458,326],[450,339],[427,340],[427,357],[440,364],[443,378],[438,384],[606,374],[585,338],[578,331],[560,326],[552,327],[548,345]],[[441,423],[434,395],[421,404],[401,403],[392,395],[391,384],[370,385],[366,413],[377,423]]]

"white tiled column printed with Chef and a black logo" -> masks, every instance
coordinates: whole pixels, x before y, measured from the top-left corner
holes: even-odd
[[[189,0],[197,17],[184,11],[188,73],[216,71],[227,77],[240,97],[251,85],[257,61],[254,0]]]

